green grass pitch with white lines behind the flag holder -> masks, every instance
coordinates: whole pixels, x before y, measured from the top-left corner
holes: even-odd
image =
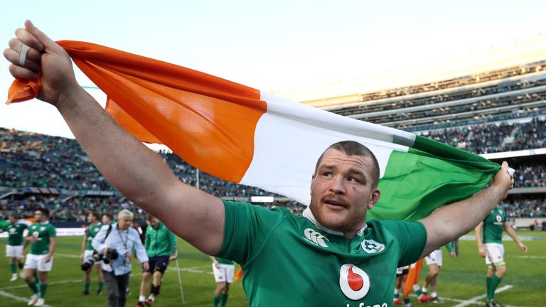
[[[545,237],[546,232],[518,232],[520,236]],[[59,237],[53,271],[50,272],[50,286],[48,288],[45,303],[50,306],[104,306],[105,295],[80,297],[78,294],[83,289],[81,282],[80,237]],[[183,291],[186,298],[185,306],[212,306],[212,296],[215,289],[213,275],[210,274],[210,260],[208,257],[179,240],[178,253],[181,271]],[[6,239],[0,239],[0,250],[4,251]],[[508,272],[502,286],[511,285],[513,288],[498,293],[496,299],[509,306],[540,306],[542,293],[546,291],[544,274],[546,272],[546,238],[525,241],[529,252],[523,254],[518,246],[510,241],[505,241],[505,261]],[[451,259],[444,252],[444,266],[439,275],[439,296],[454,300],[469,300],[485,293],[486,265],[483,258],[478,256],[475,241],[460,241],[460,256]],[[73,257],[68,257],[72,255]],[[27,298],[31,291],[22,279],[10,282],[11,276],[7,259],[4,255],[0,258],[0,306],[26,306],[22,301],[6,297],[6,293]],[[171,263],[171,269],[166,271],[164,284],[161,286],[161,295],[154,306],[182,306],[178,289],[175,264]],[[139,265],[133,264],[133,274],[130,281],[131,294],[127,306],[134,306],[137,302],[140,276]],[[427,274],[425,267],[421,279]],[[92,275],[91,291],[96,291],[96,274]],[[4,294],[4,296],[2,295]],[[419,306],[415,298],[412,298],[414,306]],[[446,300],[441,306],[456,306],[461,301]],[[429,304],[432,305],[432,304]],[[247,306],[246,296],[242,289],[241,281],[232,284],[228,306]],[[436,305],[435,305],[436,306]],[[469,306],[483,306],[483,299]]]

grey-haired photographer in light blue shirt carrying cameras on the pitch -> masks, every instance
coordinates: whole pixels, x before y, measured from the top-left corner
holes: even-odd
[[[140,241],[139,233],[131,226],[133,213],[119,211],[117,223],[105,225],[93,239],[93,249],[102,258],[102,274],[105,276],[107,306],[125,306],[126,289],[131,274],[132,251],[135,251],[144,270],[148,270],[148,256]]]

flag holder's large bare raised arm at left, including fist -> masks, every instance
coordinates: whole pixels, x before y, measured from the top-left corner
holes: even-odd
[[[207,254],[223,242],[224,207],[220,199],[183,184],[161,157],[117,125],[74,77],[63,48],[26,21],[4,56],[11,75],[36,78],[41,69],[38,99],[53,104],[73,131],[82,149],[114,188],[140,208],[155,215],[179,237]],[[30,46],[18,65],[21,42]]]

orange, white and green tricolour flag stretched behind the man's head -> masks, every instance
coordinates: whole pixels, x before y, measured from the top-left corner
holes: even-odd
[[[309,204],[317,158],[342,140],[380,164],[380,202],[369,218],[415,220],[478,192],[498,166],[405,131],[361,122],[203,72],[91,43],[60,41],[108,97],[107,111],[141,141],[234,183]],[[14,82],[11,101],[36,95]],[[30,92],[29,92],[30,91]],[[222,195],[218,195],[222,196]]]

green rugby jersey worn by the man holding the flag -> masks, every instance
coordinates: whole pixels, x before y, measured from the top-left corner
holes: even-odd
[[[420,222],[368,222],[353,239],[286,208],[225,201],[218,257],[241,264],[250,306],[392,306],[396,268],[427,242]]]

